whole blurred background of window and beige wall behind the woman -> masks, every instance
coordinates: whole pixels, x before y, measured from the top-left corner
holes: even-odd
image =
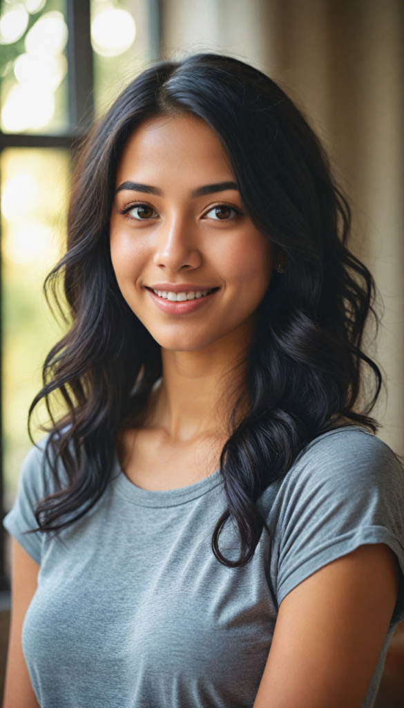
[[[323,138],[355,205],[354,250],[374,273],[379,309],[383,301],[380,436],[404,452],[403,35],[403,0],[1,0],[4,511],[30,447],[42,362],[61,333],[42,283],[64,247],[72,151],[158,57],[219,51],[250,62]],[[404,634],[394,641],[379,708],[404,706]]]

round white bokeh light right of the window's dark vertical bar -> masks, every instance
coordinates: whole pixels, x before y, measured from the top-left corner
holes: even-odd
[[[101,57],[117,57],[132,47],[136,37],[134,18],[127,10],[108,8],[91,23],[93,50]]]

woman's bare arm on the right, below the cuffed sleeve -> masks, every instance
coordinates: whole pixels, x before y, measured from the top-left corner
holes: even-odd
[[[361,708],[398,595],[398,564],[369,544],[313,573],[279,607],[254,708]]]

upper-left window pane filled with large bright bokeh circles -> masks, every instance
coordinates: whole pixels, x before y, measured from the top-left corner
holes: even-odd
[[[1,130],[69,130],[66,0],[1,3]]]

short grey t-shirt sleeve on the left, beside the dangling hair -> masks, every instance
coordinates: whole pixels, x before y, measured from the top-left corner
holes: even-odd
[[[43,533],[37,528],[35,506],[48,493],[45,479],[44,442],[33,447],[21,467],[18,495],[13,508],[4,518],[4,527],[23,549],[40,565]]]

